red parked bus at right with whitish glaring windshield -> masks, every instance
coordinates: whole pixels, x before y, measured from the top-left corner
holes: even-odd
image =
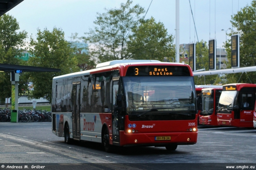
[[[255,93],[255,84],[223,85],[218,104],[218,125],[253,127]]]

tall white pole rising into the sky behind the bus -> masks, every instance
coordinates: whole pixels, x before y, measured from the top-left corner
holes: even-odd
[[[180,0],[176,0],[176,62],[180,62]]]

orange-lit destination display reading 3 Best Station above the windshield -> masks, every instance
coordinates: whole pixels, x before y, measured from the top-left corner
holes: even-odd
[[[184,66],[131,66],[126,76],[190,76],[190,72]]]

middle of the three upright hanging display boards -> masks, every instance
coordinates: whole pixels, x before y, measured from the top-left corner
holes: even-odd
[[[216,40],[209,40],[209,70],[216,70]]]

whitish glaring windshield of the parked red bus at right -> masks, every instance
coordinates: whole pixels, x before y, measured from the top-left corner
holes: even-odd
[[[232,110],[237,91],[222,91],[218,109]]]

